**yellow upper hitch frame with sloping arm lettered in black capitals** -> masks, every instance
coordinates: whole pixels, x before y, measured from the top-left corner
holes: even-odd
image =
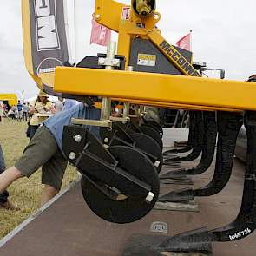
[[[95,1],[95,20],[98,23],[108,27],[111,30],[119,33],[118,36],[118,54],[126,57],[126,68],[128,67],[131,40],[135,36],[149,39],[181,71],[183,75],[200,76],[199,72],[194,69],[192,63],[181,55],[173,45],[167,43],[165,38],[155,24],[161,19],[158,12],[154,12],[154,16],[141,19],[136,14],[136,11],[131,8],[131,16],[129,20],[121,20],[122,8],[126,5],[117,3],[113,0],[96,0]],[[139,27],[138,23],[143,23]]]

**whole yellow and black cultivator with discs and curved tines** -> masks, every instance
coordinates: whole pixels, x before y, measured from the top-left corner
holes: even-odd
[[[48,7],[53,6],[54,1],[49,2]],[[244,123],[248,141],[246,176],[237,218],[210,231],[200,228],[177,234],[161,244],[153,244],[152,248],[156,252],[204,251],[213,241],[240,240],[253,233],[256,226],[253,80],[223,81],[223,72],[219,80],[202,77],[202,70],[207,68],[194,65],[192,52],[173,46],[161,36],[157,28],[161,14],[156,11],[155,0],[132,0],[130,6],[113,0],[96,0],[95,21],[118,33],[117,52],[112,42],[106,54],[87,56],[76,66],[60,62],[60,66],[49,67],[49,73],[38,74],[33,55],[36,42],[33,29],[37,23],[36,19],[30,19],[36,14],[34,9],[28,11],[31,1],[22,3],[24,57],[37,86],[50,95],[61,93],[88,105],[100,101],[101,120],[72,120],[73,125],[64,128],[62,145],[67,159],[82,174],[82,194],[94,213],[115,223],[141,219],[158,200],[158,174],[163,164],[179,166],[180,162],[200,157],[196,167],[161,175],[162,180],[185,181],[186,175],[196,178],[213,162],[216,145],[215,170],[207,186],[171,191],[159,200],[181,202],[220,193],[232,174],[235,143]],[[127,8],[128,16],[124,16]],[[64,21],[62,25],[65,28]],[[42,53],[53,57],[49,50]],[[121,102],[121,116],[111,116],[111,102]],[[141,126],[133,123],[129,114],[132,105],[136,106],[133,110],[151,106],[189,111],[187,146],[162,154],[161,125],[143,120],[143,111],[135,113],[142,121]],[[101,127],[101,140],[84,125]]]

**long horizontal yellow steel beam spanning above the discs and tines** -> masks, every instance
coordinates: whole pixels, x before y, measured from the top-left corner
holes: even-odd
[[[253,82],[185,75],[57,67],[55,90],[164,104],[256,110]]]

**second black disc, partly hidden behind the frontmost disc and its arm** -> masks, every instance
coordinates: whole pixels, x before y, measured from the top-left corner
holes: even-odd
[[[158,162],[153,162],[153,164],[157,172],[160,173],[163,157],[161,148],[159,147],[158,143],[148,135],[134,133],[130,134],[130,136],[136,142],[137,148],[145,151],[148,154],[153,154],[154,156],[156,156]]]

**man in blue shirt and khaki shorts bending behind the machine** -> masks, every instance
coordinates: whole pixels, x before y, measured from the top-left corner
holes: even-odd
[[[98,120],[100,115],[99,109],[79,103],[44,121],[43,126],[38,128],[30,144],[24,149],[22,157],[13,167],[0,174],[0,194],[13,181],[24,176],[30,177],[42,167],[42,183],[45,187],[41,204],[52,199],[62,186],[62,178],[68,163],[62,151],[63,127],[70,124],[71,118]],[[97,127],[88,128],[99,136]]]

